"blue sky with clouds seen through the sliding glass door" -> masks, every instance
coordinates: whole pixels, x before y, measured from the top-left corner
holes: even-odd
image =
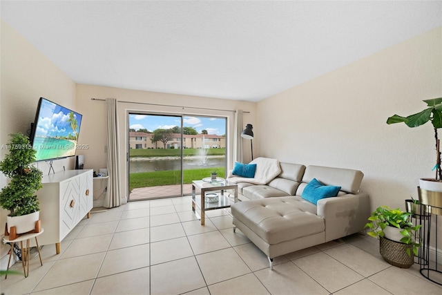
[[[129,128],[147,129],[171,129],[173,126],[180,126],[181,117],[172,117],[165,115],[129,115]],[[208,134],[224,135],[226,134],[226,119],[216,117],[190,117],[184,116],[184,127],[193,127],[198,133],[206,130]]]

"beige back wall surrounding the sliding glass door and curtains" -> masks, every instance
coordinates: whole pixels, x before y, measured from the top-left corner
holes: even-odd
[[[255,124],[254,118],[256,104],[251,102],[77,84],[76,110],[83,115],[84,120],[81,125],[79,144],[88,144],[88,146],[90,146],[88,150],[84,151],[85,168],[87,169],[96,170],[106,167],[107,157],[104,152],[106,150],[106,102],[91,100],[91,97],[97,99],[115,97],[119,101],[119,161],[120,175],[122,176],[121,196],[123,198],[127,197],[128,194],[128,172],[126,162],[126,153],[128,152],[128,112],[136,111],[158,114],[213,115],[227,117],[227,137],[233,134],[233,112],[211,111],[209,109],[242,109],[243,111],[249,111],[250,113],[244,114],[244,124],[246,122]],[[155,106],[152,104],[161,104],[161,106]],[[87,129],[87,131],[84,131],[85,129]],[[229,142],[229,144],[229,151],[231,151],[233,142]],[[248,149],[249,146],[244,143],[246,159],[247,157],[250,157],[249,153],[247,153]],[[228,156],[229,151],[227,151]],[[255,151],[258,151],[258,149],[255,149]],[[248,158],[247,160],[251,159]]]

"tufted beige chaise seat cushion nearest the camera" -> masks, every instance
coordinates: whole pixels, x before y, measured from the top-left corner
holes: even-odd
[[[231,206],[231,213],[270,245],[325,231],[316,206],[300,197],[238,202]]]

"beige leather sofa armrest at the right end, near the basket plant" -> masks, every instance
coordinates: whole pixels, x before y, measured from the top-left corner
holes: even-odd
[[[318,200],[317,210],[325,220],[326,242],[362,231],[371,214],[367,193]]]

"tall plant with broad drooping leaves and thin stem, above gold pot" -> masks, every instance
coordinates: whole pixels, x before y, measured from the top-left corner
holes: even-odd
[[[427,104],[427,108],[419,113],[402,117],[400,115],[392,115],[387,119],[387,124],[405,123],[410,128],[421,126],[427,122],[432,122],[434,128],[434,139],[436,140],[436,164],[433,170],[436,170],[435,180],[442,180],[441,168],[441,151],[437,129],[442,128],[442,97],[434,99],[426,99],[423,102]]]

